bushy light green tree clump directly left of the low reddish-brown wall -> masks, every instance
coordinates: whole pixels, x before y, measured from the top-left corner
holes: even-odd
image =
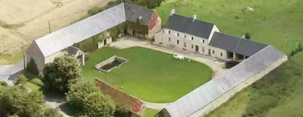
[[[115,113],[116,106],[112,99],[88,81],[72,84],[66,95],[70,104],[81,108],[90,117],[113,117]]]

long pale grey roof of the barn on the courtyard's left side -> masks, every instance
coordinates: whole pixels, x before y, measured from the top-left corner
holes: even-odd
[[[47,57],[125,21],[124,5],[120,4],[45,35],[36,42],[44,57]]]

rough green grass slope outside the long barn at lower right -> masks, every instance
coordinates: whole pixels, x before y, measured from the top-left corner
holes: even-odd
[[[283,66],[285,68],[283,68]],[[255,115],[257,117],[298,117],[303,116],[301,107],[303,104],[303,53],[299,53],[291,58],[290,61],[283,63],[283,66],[278,67],[276,70],[269,73],[267,76],[258,80],[254,85],[242,90],[236,94],[228,102],[220,106],[211,114],[206,117],[241,117],[243,113],[251,108],[251,105],[258,103],[258,101],[265,101],[266,96],[264,91],[271,92],[278,96],[275,100],[274,106],[263,113]],[[279,73],[281,74],[279,74]],[[274,79],[274,80],[269,80]],[[269,85],[263,88],[255,88],[258,85]],[[277,87],[284,87],[278,89]],[[284,93],[281,93],[284,92]],[[251,105],[249,105],[251,104]],[[253,108],[260,108],[261,103]]]

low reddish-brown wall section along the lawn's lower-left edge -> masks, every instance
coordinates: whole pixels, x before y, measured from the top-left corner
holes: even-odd
[[[141,114],[145,112],[145,103],[141,102],[139,99],[128,95],[127,93],[110,86],[98,79],[94,80],[96,86],[100,87],[103,94],[112,97],[112,100],[124,108],[131,109],[132,112],[136,114]]]

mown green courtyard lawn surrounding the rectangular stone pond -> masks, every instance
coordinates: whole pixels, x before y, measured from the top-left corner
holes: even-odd
[[[114,55],[129,60],[109,73],[94,66]],[[82,67],[84,79],[98,78],[147,102],[174,102],[211,80],[212,70],[203,63],[143,47],[117,49],[103,47],[87,55]],[[123,89],[121,88],[123,86]]]

